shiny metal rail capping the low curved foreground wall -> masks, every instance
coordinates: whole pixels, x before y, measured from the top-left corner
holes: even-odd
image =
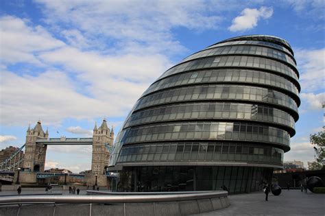
[[[38,195],[38,196],[16,196],[0,197],[0,205],[32,202],[53,202],[55,204],[84,204],[84,203],[106,203],[123,204],[139,202],[174,202],[184,200],[201,200],[214,197],[225,197],[227,191],[204,191],[202,193],[182,193],[182,194],[156,194],[156,195]]]

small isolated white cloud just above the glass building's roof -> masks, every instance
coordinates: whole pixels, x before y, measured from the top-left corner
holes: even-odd
[[[273,14],[273,8],[261,7],[245,8],[241,12],[241,16],[237,16],[232,20],[232,25],[228,27],[230,32],[245,31],[257,26],[259,19],[269,19]]]

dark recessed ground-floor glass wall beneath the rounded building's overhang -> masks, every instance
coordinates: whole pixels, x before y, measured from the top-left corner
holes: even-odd
[[[119,191],[217,191],[226,187],[232,194],[249,193],[261,190],[272,172],[272,168],[240,166],[125,167]]]

